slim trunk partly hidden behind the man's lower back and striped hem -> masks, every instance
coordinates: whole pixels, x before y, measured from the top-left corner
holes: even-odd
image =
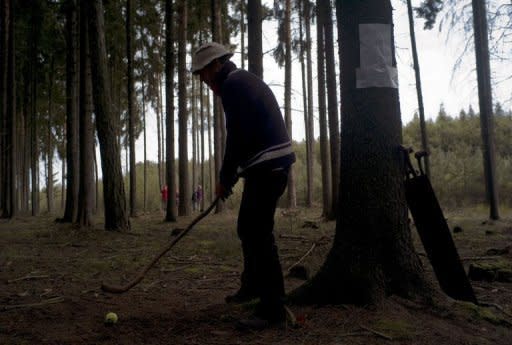
[[[291,44],[291,0],[285,2],[284,28],[285,28],[285,67],[284,67],[284,120],[288,136],[292,139],[292,44]],[[297,193],[295,190],[295,174],[293,166],[288,174],[288,207],[297,207]]]

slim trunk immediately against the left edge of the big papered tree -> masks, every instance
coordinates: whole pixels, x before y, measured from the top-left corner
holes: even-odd
[[[338,97],[336,68],[334,61],[334,38],[332,29],[332,8],[330,0],[322,0],[323,30],[325,42],[325,72],[327,81],[327,110],[329,114],[329,142],[331,148],[331,212],[329,219],[335,219],[338,212],[338,190],[340,180],[340,123],[338,120]]]

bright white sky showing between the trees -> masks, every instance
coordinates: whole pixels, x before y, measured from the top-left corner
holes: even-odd
[[[272,1],[263,1],[272,6]],[[413,6],[419,5],[419,0],[413,0]],[[394,7],[394,35],[396,59],[399,79],[399,95],[402,122],[406,124],[411,121],[418,110],[416,96],[416,84],[412,66],[412,55],[410,48],[409,22],[407,7],[403,0],[392,0]],[[263,51],[269,52],[276,46],[277,23],[275,21],[264,21],[263,23]],[[336,33],[336,30],[334,30]],[[423,20],[415,18],[416,45],[418,50],[421,82],[423,89],[423,101],[425,116],[433,119],[437,116],[440,105],[451,116],[457,116],[461,109],[467,110],[469,105],[478,112],[478,91],[475,71],[475,55],[471,48],[464,56],[460,67],[455,70],[457,60],[460,58],[466,44],[465,35],[460,30],[440,31],[438,26],[433,30],[423,29]],[[316,41],[316,27],[312,26],[312,39]],[[470,38],[472,39],[472,38]],[[239,42],[239,37],[233,37],[232,42]],[[472,45],[471,45],[472,47]],[[337,46],[335,46],[337,49]],[[313,52],[316,48],[313,48]],[[232,60],[240,67],[240,51],[235,50]],[[336,51],[337,55],[337,51]],[[313,53],[313,58],[315,54]],[[264,56],[263,79],[269,84],[276,98],[283,107],[284,105],[284,69],[279,68],[270,53]],[[336,71],[338,71],[336,67]],[[491,64],[493,76],[507,74],[506,64]],[[313,66],[314,95],[316,95],[316,65]],[[505,110],[511,107],[510,97],[512,83],[510,81],[501,83],[493,88],[493,101],[499,101],[504,105]],[[507,101],[508,100],[508,101]],[[304,138],[304,120],[302,113],[302,81],[300,63],[297,57],[293,60],[292,70],[292,136],[294,140],[301,141]],[[314,100],[315,110],[318,101]],[[148,112],[148,159],[157,160],[156,149],[156,123],[153,112]],[[316,116],[318,118],[318,116]],[[177,133],[177,130],[175,131]],[[318,128],[315,129],[315,137],[318,137]],[[190,144],[189,140],[189,144]],[[143,160],[143,139],[142,135],[136,143],[136,160]],[[189,149],[189,154],[192,150]],[[125,155],[122,157],[123,166]]]

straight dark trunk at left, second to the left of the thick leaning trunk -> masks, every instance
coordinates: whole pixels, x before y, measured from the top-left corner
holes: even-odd
[[[76,219],[78,211],[78,99],[77,99],[77,3],[66,2],[66,206],[64,222]]]

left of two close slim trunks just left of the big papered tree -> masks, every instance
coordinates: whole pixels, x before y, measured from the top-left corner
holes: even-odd
[[[321,0],[316,1],[318,9]],[[318,75],[318,124],[320,128],[320,163],[322,167],[322,215],[330,217],[332,211],[331,198],[331,160],[329,157],[329,139],[327,135],[327,112],[325,104],[325,55],[324,55],[324,30],[323,13],[317,11],[316,21],[316,55],[317,55],[317,75]]]

